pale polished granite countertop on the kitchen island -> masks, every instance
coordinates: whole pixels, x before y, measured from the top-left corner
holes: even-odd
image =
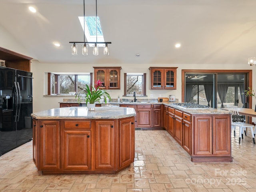
[[[134,108],[127,107],[95,107],[94,111],[87,107],[64,107],[32,113],[35,119],[120,119],[136,116]]]

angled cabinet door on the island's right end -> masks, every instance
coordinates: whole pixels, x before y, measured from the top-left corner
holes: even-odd
[[[129,166],[134,162],[135,155],[135,128],[134,117],[119,120],[120,138],[120,168]]]

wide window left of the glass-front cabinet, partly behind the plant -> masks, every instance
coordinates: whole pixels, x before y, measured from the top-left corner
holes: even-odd
[[[80,92],[86,84],[92,85],[92,73],[62,74],[48,73],[48,95]]]

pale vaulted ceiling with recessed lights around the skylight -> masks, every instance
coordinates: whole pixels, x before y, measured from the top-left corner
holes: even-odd
[[[86,16],[95,7],[85,0]],[[69,42],[84,41],[83,0],[1,0],[0,26],[42,63],[246,64],[256,56],[255,10],[255,0],[98,0],[109,56],[82,56],[81,45],[71,55]]]

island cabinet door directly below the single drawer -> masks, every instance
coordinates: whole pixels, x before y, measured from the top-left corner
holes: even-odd
[[[91,168],[91,133],[89,130],[64,130],[64,170]]]

